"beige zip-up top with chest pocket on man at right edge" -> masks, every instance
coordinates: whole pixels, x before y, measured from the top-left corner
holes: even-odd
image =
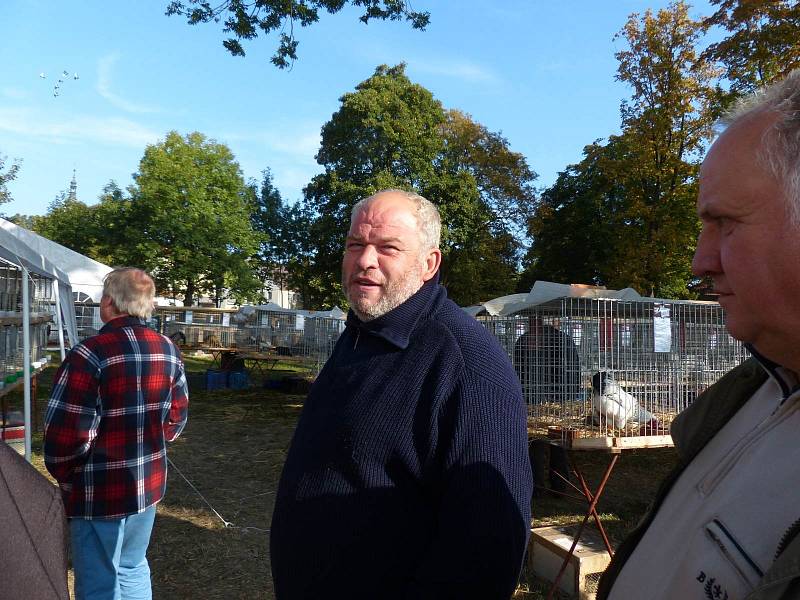
[[[675,482],[612,600],[742,600],[772,565],[797,519],[800,390],[794,373],[761,362],[769,379]]]

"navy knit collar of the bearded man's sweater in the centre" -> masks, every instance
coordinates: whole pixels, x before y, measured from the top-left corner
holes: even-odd
[[[405,350],[417,324],[427,318],[434,303],[441,302],[446,297],[447,292],[439,285],[437,272],[408,300],[376,319],[362,321],[351,308],[347,313],[347,325],[380,337],[400,350]]]

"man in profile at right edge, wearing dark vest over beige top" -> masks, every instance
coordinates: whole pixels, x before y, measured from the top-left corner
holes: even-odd
[[[800,598],[800,70],[724,124],[693,270],[753,358],[675,419],[680,464],[598,598]]]

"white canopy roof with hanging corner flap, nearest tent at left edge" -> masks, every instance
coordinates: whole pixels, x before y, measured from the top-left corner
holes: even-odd
[[[74,345],[78,343],[78,325],[75,320],[75,304],[69,275],[59,266],[57,260],[53,260],[58,257],[41,252],[42,246],[35,243],[35,238],[30,236],[41,240],[45,239],[5,219],[0,219],[0,257],[15,265],[24,266],[31,273],[58,281],[61,319],[67,330],[69,341]],[[72,251],[70,250],[70,252]]]

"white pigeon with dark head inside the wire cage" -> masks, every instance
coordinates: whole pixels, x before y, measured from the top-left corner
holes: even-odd
[[[608,371],[600,371],[592,377],[592,419],[614,429],[625,429],[632,423],[648,432],[663,430],[653,413],[642,408]]]

